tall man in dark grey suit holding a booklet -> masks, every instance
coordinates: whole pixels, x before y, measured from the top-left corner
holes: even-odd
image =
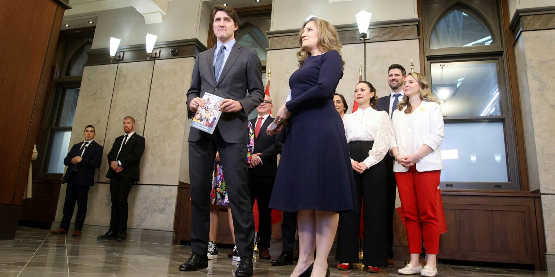
[[[195,60],[191,87],[187,91],[189,118],[204,106],[204,93],[225,100],[219,106],[222,114],[213,135],[195,128],[189,132],[193,254],[179,270],[208,267],[209,193],[214,159],[219,152],[241,258],[235,276],[253,276],[254,220],[247,185],[246,145],[249,139],[245,134],[248,115],[264,100],[261,65],[254,49],[235,42],[239,16],[234,9],[218,4],[210,18],[218,42]]]

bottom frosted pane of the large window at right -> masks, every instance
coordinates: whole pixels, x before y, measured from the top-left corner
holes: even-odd
[[[442,182],[508,182],[502,122],[446,123]]]

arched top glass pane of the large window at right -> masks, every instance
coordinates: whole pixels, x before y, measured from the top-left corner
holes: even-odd
[[[471,12],[452,11],[433,28],[430,49],[495,44],[486,27]]]

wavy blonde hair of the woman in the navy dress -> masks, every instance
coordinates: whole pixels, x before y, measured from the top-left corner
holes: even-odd
[[[337,35],[337,29],[334,25],[327,22],[324,19],[312,17],[305,24],[302,24],[302,28],[299,32],[299,51],[297,52],[297,60],[299,61],[299,67],[305,63],[307,57],[310,57],[310,52],[307,52],[302,48],[302,33],[305,32],[306,24],[309,22],[314,22],[316,24],[316,29],[318,29],[318,47],[323,52],[328,52],[331,50],[336,50],[339,55],[341,55],[341,48],[343,45],[339,41],[339,35]],[[341,59],[342,60],[342,59]],[[343,68],[345,69],[345,61],[343,61]]]

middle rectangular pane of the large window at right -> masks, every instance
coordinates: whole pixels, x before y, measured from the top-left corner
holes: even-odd
[[[443,116],[501,115],[496,61],[432,63],[431,70],[432,93]]]

